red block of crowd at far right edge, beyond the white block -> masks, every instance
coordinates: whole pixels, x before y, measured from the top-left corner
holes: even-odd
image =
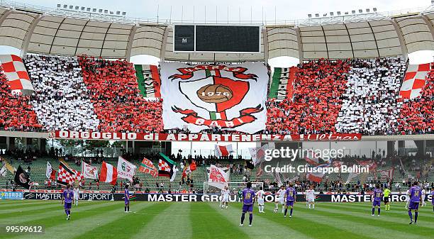
[[[401,133],[431,133],[434,129],[434,64],[428,73],[421,97],[405,99],[398,119]]]

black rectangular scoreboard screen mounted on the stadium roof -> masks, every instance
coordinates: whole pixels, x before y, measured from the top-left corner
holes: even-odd
[[[259,26],[174,26],[175,52],[260,52]]]

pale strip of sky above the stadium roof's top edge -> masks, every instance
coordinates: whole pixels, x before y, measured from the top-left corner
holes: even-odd
[[[23,1],[23,0],[21,0]],[[57,4],[68,4],[74,6],[86,6],[96,9],[107,9],[109,11],[126,11],[127,16],[138,18],[170,18],[170,9],[172,7],[172,19],[196,20],[206,19],[207,21],[226,21],[228,18],[232,21],[238,21],[241,17],[243,21],[250,21],[250,9],[252,9],[252,20],[262,21],[262,8],[267,22],[272,23],[277,20],[291,20],[298,18],[307,18],[308,13],[328,13],[330,11],[351,11],[358,9],[377,8],[378,11],[393,11],[398,9],[411,9],[415,7],[428,7],[430,0],[365,0],[365,1],[345,1],[345,0],[242,0],[242,1],[203,1],[203,0],[152,0],[152,1],[117,1],[117,0],[75,0],[75,1],[52,1],[52,0],[25,0],[28,4],[38,6],[56,7]],[[216,5],[218,2],[218,5]],[[194,8],[194,14],[193,14]],[[183,11],[182,11],[183,10]],[[182,14],[184,12],[184,14]],[[239,14],[239,12],[241,14]],[[274,14],[275,13],[275,14]],[[183,16],[182,16],[183,15]]]

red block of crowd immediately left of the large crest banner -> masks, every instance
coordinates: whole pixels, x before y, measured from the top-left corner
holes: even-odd
[[[79,56],[78,61],[100,121],[99,130],[138,133],[162,130],[162,104],[140,96],[133,64],[85,55]]]

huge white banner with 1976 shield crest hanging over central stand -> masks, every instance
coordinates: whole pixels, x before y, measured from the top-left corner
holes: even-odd
[[[199,133],[222,128],[251,134],[265,129],[269,77],[262,62],[160,65],[165,129]]]

